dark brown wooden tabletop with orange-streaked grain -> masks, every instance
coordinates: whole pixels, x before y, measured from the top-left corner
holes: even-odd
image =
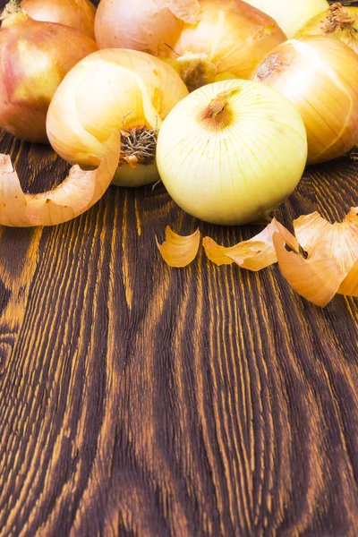
[[[30,192],[68,166],[3,135]],[[277,210],[331,221],[358,163]],[[0,534],[358,535],[358,300],[307,303],[277,267],[168,268],[165,226],[233,244],[163,186],[111,187],[63,226],[0,227]]]

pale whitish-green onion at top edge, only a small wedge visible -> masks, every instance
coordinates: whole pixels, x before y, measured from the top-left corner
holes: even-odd
[[[277,21],[288,38],[292,38],[312,17],[328,8],[326,0],[246,0]]]

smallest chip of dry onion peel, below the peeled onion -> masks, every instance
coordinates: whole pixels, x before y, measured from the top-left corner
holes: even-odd
[[[196,258],[200,244],[200,231],[198,229],[191,235],[179,235],[166,226],[166,241],[158,243],[158,250],[169,267],[183,268]]]

